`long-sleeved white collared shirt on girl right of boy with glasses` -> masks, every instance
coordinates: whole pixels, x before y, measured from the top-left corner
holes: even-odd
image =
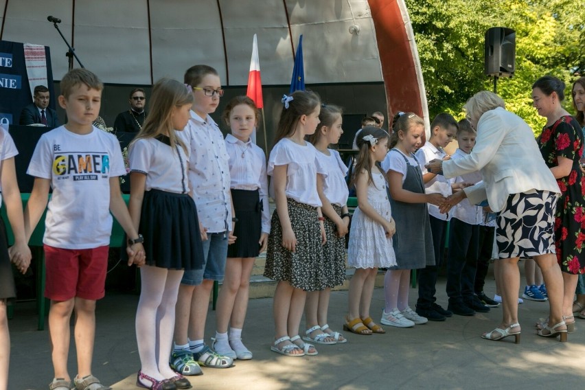
[[[251,140],[240,141],[231,134],[225,137],[229,155],[230,187],[233,190],[255,191],[262,200],[262,232],[270,233],[270,205],[268,205],[268,176],[266,154]]]

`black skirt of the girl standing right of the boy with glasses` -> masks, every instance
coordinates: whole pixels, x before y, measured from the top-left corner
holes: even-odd
[[[262,234],[262,201],[258,190],[231,190],[233,209],[236,211],[236,242],[227,247],[227,257],[256,257],[260,254]]]

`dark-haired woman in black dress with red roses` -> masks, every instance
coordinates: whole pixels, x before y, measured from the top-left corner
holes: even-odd
[[[579,165],[583,133],[579,122],[562,108],[564,87],[553,76],[539,78],[532,86],[532,100],[538,114],[547,118],[538,146],[561,190],[555,213],[555,249],[564,283],[563,319],[571,332],[577,275],[585,273],[585,178]]]

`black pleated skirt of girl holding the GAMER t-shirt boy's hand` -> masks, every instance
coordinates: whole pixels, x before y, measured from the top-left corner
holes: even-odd
[[[195,202],[188,194],[144,192],[139,232],[146,264],[185,271],[203,268],[203,244]]]

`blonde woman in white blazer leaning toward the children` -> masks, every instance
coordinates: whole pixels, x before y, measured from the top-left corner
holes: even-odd
[[[490,208],[498,213],[495,273],[502,290],[503,319],[496,329],[482,337],[501,340],[514,336],[516,343],[520,342],[517,263],[520,257],[534,257],[542,270],[550,304],[549,323],[538,334],[545,337],[560,334],[561,341],[566,341],[562,275],[554,242],[554,214],[560,190],[542,159],[531,128],[504,106],[495,93],[476,93],[464,107],[470,123],[477,128],[472,152],[462,159],[431,161],[428,169],[447,178],[478,170],[483,175],[482,182],[448,198],[442,211],[469,198],[472,204],[487,199]]]

